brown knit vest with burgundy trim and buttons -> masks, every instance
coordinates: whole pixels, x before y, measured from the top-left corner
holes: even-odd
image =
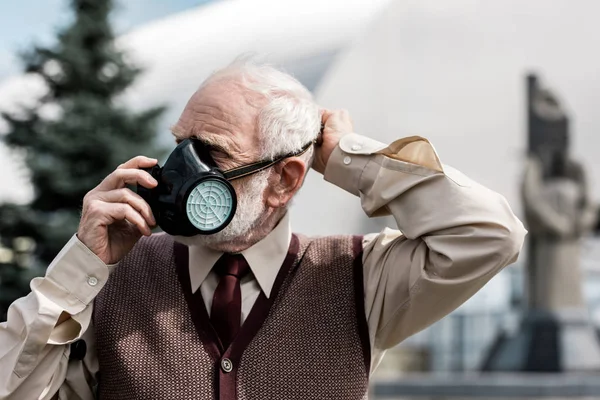
[[[365,399],[370,347],[360,237],[292,236],[270,298],[261,292],[222,349],[187,247],[144,238],[95,301],[100,399]]]

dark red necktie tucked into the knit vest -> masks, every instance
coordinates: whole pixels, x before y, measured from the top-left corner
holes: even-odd
[[[221,277],[210,311],[210,320],[228,348],[238,331],[242,319],[242,291],[240,279],[250,270],[241,254],[223,254],[215,264],[215,272]]]

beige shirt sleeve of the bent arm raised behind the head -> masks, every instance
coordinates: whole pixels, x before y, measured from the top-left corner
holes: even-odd
[[[442,164],[419,136],[384,146],[348,135],[325,179],[359,196],[368,216],[392,215],[399,229],[363,243],[373,367],[385,349],[456,309],[514,262],[524,241],[504,197]]]

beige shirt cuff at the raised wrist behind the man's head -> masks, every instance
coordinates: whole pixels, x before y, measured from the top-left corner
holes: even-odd
[[[370,156],[385,148],[383,143],[356,133],[343,136],[327,161],[325,180],[359,196],[360,178]]]

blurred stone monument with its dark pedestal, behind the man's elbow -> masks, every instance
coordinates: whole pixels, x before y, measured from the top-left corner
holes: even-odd
[[[569,118],[527,77],[528,156],[522,195],[527,306],[519,330],[500,333],[484,371],[600,371],[600,342],[583,296],[581,239],[596,224],[582,165],[569,157]]]

